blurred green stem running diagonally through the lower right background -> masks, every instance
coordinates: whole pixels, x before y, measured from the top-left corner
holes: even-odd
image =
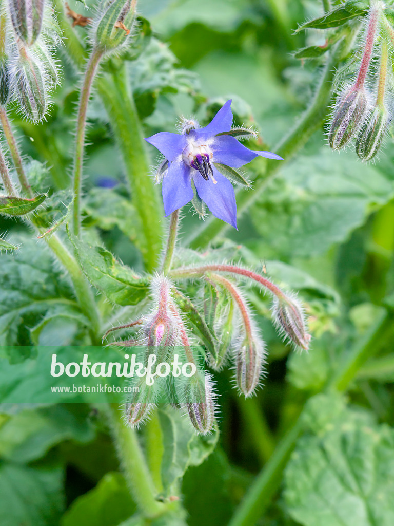
[[[367,335],[351,349],[348,358],[340,366],[328,389],[334,388],[341,392],[345,391],[359,368],[379,350],[379,343],[387,337],[390,328],[392,330],[392,316],[389,314],[382,315]],[[257,475],[244,500],[235,511],[229,526],[253,526],[265,512],[281,484],[283,470],[295,447],[297,438],[302,432],[302,418],[303,415],[301,414],[293,428],[279,442],[273,456]]]

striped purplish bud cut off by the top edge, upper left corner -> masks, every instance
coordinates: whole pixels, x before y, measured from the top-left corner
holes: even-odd
[[[31,46],[43,25],[45,0],[8,0],[9,14],[16,36]]]

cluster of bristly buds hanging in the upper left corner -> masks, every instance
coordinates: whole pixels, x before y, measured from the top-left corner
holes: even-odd
[[[0,15],[0,104],[16,100],[38,122],[58,82],[53,53],[61,30],[48,0],[7,0],[7,6]]]

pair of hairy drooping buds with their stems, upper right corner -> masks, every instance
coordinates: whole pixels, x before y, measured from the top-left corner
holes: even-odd
[[[387,77],[394,30],[383,14],[384,8],[382,2],[371,2],[358,74],[337,96],[328,133],[331,148],[339,150],[353,142],[363,161],[376,156],[391,122],[391,83]],[[376,55],[379,65],[372,67],[371,58]]]

